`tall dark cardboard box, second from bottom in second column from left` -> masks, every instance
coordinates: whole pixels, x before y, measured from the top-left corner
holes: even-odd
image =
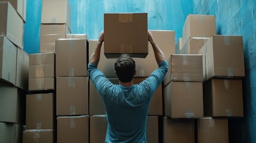
[[[55,129],[55,95],[26,96],[26,129]]]

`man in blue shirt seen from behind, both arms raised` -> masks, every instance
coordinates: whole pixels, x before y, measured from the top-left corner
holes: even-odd
[[[148,39],[159,68],[139,85],[134,85],[132,81],[136,74],[135,61],[129,55],[123,54],[115,63],[119,85],[113,85],[97,69],[100,49],[104,41],[104,33],[100,33],[98,44],[88,64],[88,73],[103,99],[107,112],[105,142],[147,142],[146,123],[150,100],[168,70],[165,55],[155,43],[150,31],[148,31]]]

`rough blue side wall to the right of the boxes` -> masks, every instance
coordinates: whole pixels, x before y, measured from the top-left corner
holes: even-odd
[[[256,1],[193,0],[194,13],[212,14],[217,34],[242,35],[245,56],[244,118],[230,119],[230,142],[256,142]]]

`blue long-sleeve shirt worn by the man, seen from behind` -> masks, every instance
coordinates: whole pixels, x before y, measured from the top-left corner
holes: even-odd
[[[100,93],[107,113],[105,142],[147,142],[146,123],[150,100],[164,80],[167,62],[138,85],[122,86],[111,83],[95,64],[88,64],[88,74]]]

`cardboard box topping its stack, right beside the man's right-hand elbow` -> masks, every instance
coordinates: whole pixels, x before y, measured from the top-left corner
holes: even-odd
[[[173,54],[168,58],[164,86],[171,81],[203,82],[203,55]]]

